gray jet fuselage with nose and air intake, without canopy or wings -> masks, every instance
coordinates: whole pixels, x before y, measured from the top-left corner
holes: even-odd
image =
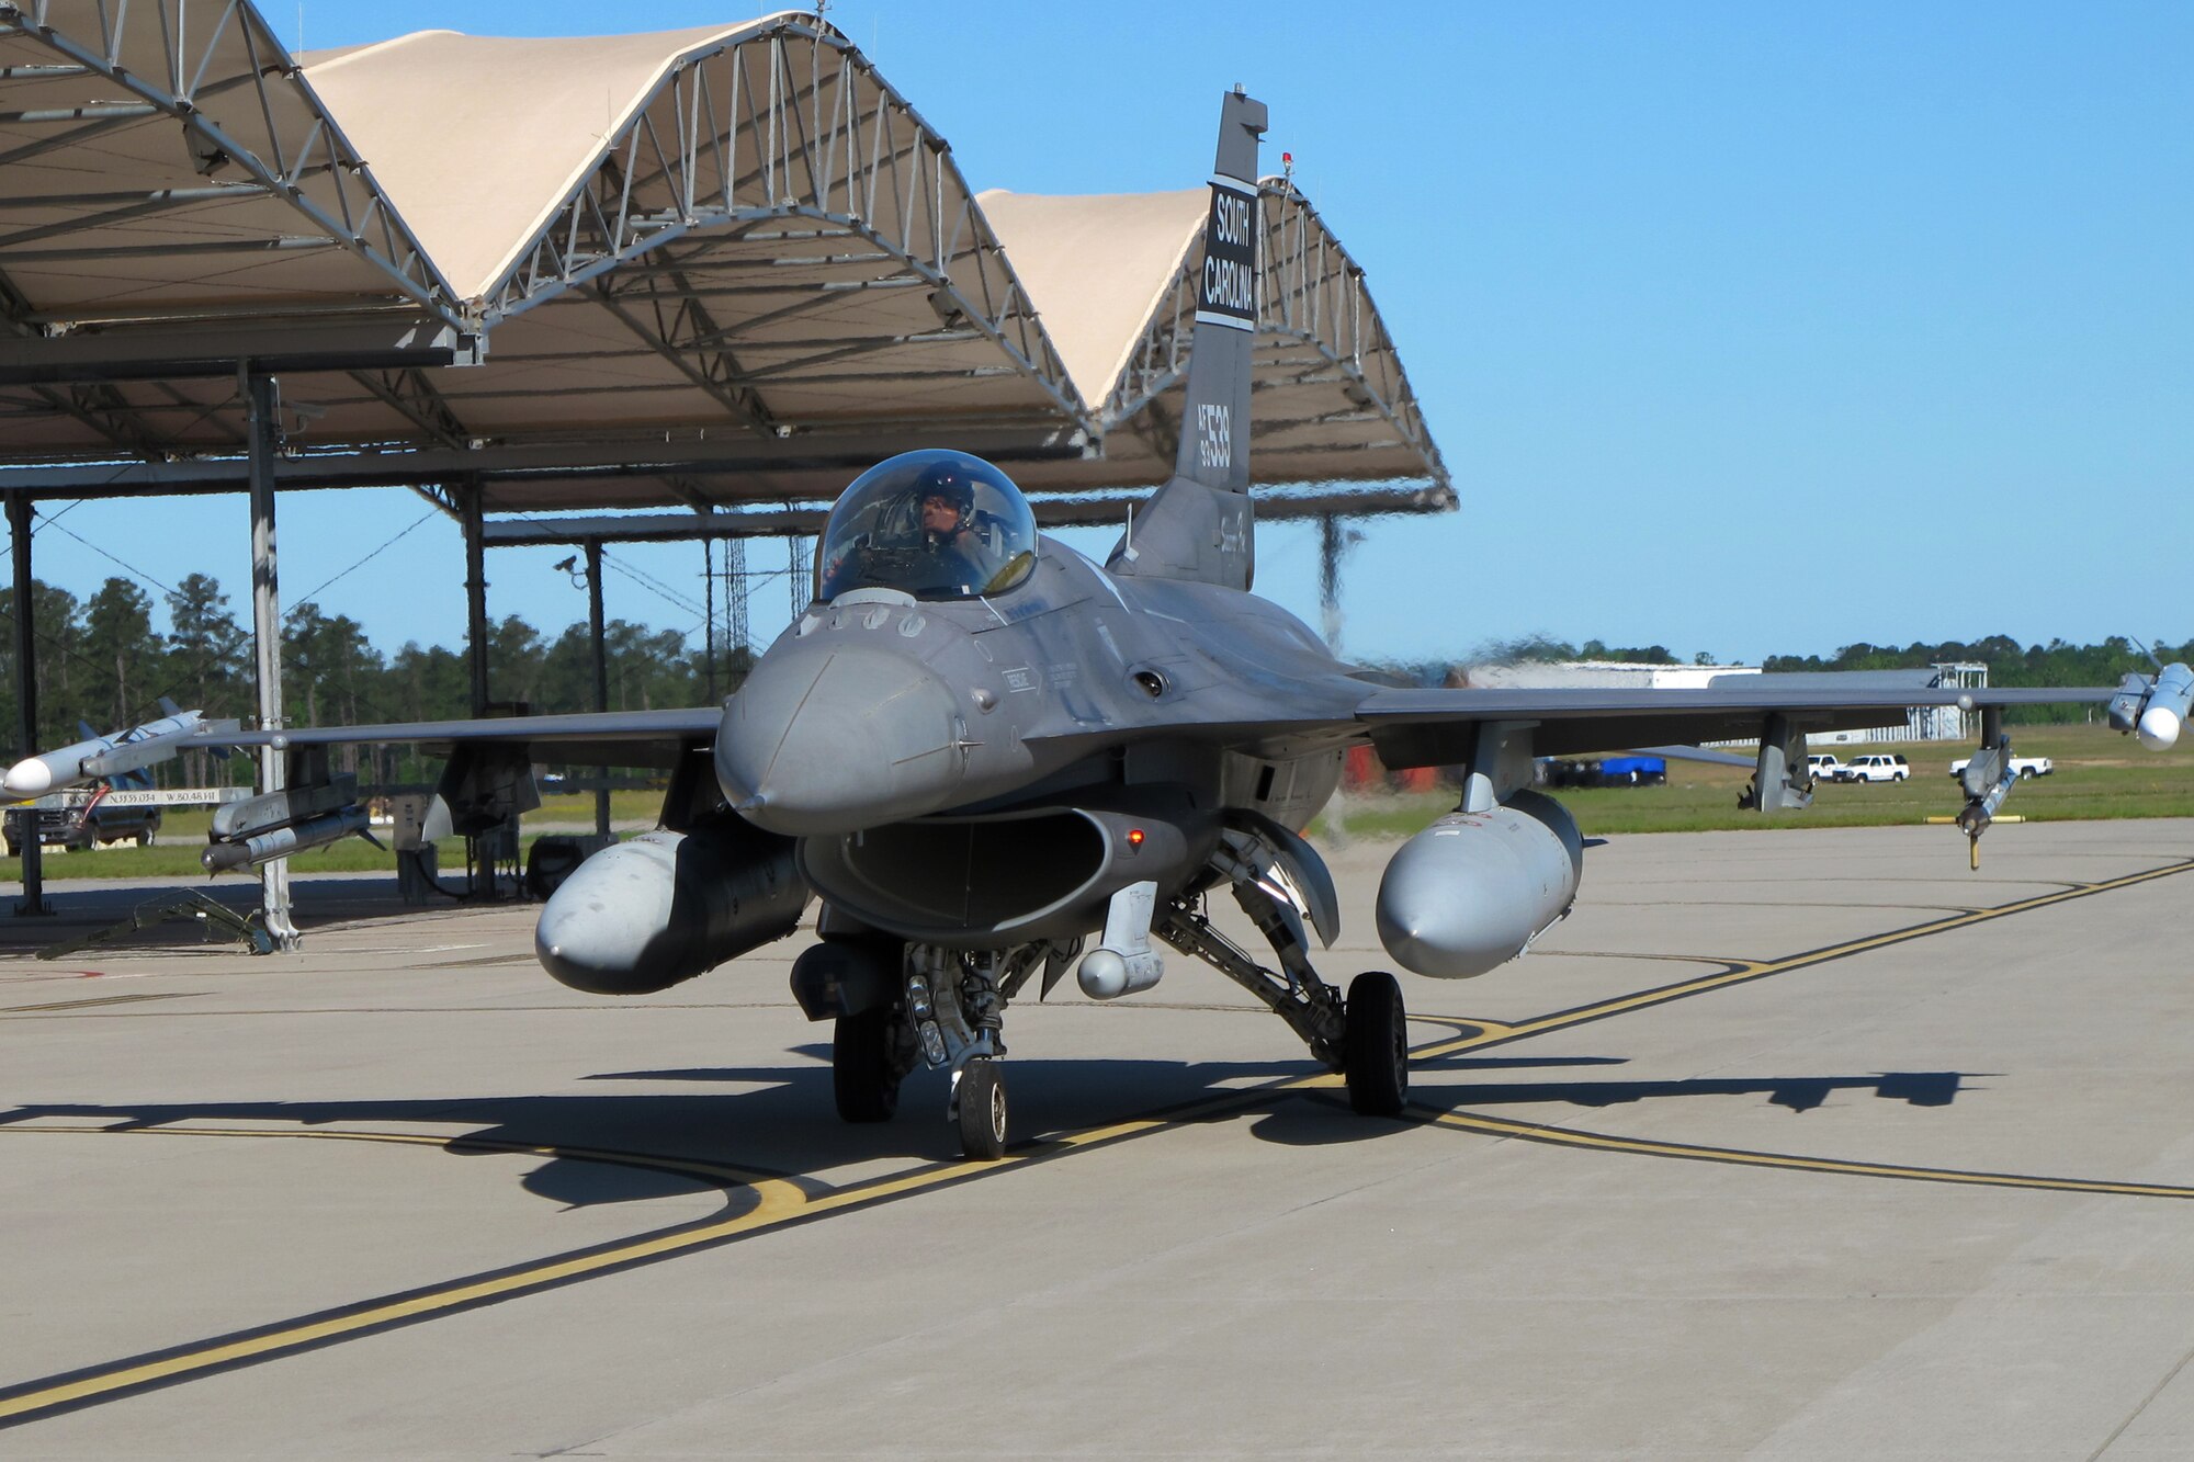
[[[1130,871],[1187,887],[1229,821],[1301,830],[1365,689],[1257,595],[1115,577],[1047,538],[996,597],[810,606],[726,705],[715,771],[867,924],[1071,937]]]

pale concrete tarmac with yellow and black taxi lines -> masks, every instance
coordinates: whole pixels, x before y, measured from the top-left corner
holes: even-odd
[[[1404,1120],[1174,955],[1014,1005],[987,1166],[930,1073],[838,1124],[803,940],[606,1001],[373,880],[265,959],[0,920],[0,1455],[2194,1455],[2194,821],[1586,858],[1404,977]]]

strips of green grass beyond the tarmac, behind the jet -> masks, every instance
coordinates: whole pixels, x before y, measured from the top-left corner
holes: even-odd
[[[2194,746],[2163,755],[2141,751],[2133,738],[2104,727],[2027,727],[2012,733],[2018,755],[2051,757],[2056,773],[2025,781],[2005,801],[2005,814],[2029,821],[2076,821],[2113,817],[2194,817]],[[1911,757],[1913,777],[1900,784],[1832,784],[1819,788],[1803,812],[1762,817],[1744,812],[1738,792],[1751,781],[1751,771],[1735,766],[1703,766],[1670,762],[1667,786],[1564,790],[1556,797],[1569,806],[1586,836],[1610,832],[1709,832],[1718,828],[1882,828],[1924,823],[1931,814],[1946,817],[1964,806],[1964,792],[1950,779],[1950,760],[1966,746],[1929,742],[1891,746]],[[1839,746],[1836,755],[1852,760],[1861,749]],[[614,823],[654,823],[660,792],[610,792]],[[1441,812],[1455,808],[1455,792],[1400,797],[1389,792],[1349,795],[1341,806],[1349,836],[1409,836]],[[211,812],[200,808],[169,810],[154,847],[105,847],[92,854],[46,854],[46,878],[204,878],[197,850],[206,843]],[[1310,825],[1312,836],[1330,834],[1332,810]],[[546,823],[595,825],[595,795],[573,792],[542,799],[529,812],[527,828]],[[531,841],[531,836],[527,839]],[[465,845],[441,843],[441,867],[461,869]],[[333,847],[314,847],[290,861],[301,874],[395,874],[395,856],[360,839]],[[13,858],[0,861],[0,876],[15,871]]]

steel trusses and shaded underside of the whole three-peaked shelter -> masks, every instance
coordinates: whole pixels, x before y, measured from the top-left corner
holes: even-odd
[[[1172,459],[1165,397],[1185,373],[1200,241],[1093,406],[943,138],[812,15],[759,20],[665,57],[577,154],[579,182],[531,215],[542,220],[527,224],[531,237],[463,281],[467,294],[480,290],[465,301],[248,0],[0,0],[0,83],[26,105],[0,114],[0,154],[35,119],[37,140],[18,154],[59,156],[92,138],[101,154],[127,145],[136,162],[180,173],[169,178],[178,187],[127,195],[114,180],[86,184],[59,213],[53,198],[0,187],[0,421],[22,426],[9,452],[22,465],[0,472],[7,490],[222,490],[241,476],[244,443],[228,382],[15,375],[9,389],[11,349],[59,360],[97,345],[101,329],[121,345],[165,331],[219,338],[228,358],[235,338],[276,325],[336,338],[375,310],[399,323],[426,316],[465,340],[494,331],[494,358],[478,371],[428,371],[439,360],[408,336],[404,349],[366,349],[380,325],[353,329],[355,356],[294,356],[279,369],[309,426],[301,419],[290,437],[285,485],[406,483],[445,511],[456,507],[445,483],[461,479],[487,487],[496,511],[706,509],[810,496],[838,463],[943,435],[1029,463],[1038,490],[1121,487],[1145,468],[1163,476],[1145,450]],[[340,99],[331,77],[323,83]],[[59,94],[48,86],[75,86],[75,105],[35,110]],[[92,105],[114,88],[132,101]],[[158,138],[140,130],[132,140],[127,127],[147,119]],[[373,140],[364,114],[351,123]],[[399,184],[382,143],[373,156]],[[1360,268],[1292,189],[1268,180],[1262,211],[1257,437],[1279,448],[1266,461],[1290,461],[1277,481],[1428,476],[1430,487],[1384,492],[1365,509],[1452,507]],[[169,288],[105,314],[9,288],[9,261],[48,239],[79,255],[86,244],[90,255],[151,255],[167,224],[184,248],[211,239],[246,250],[252,279],[263,261],[250,250],[336,272],[279,274],[259,303]],[[193,281],[191,268],[217,279],[230,263],[158,279]],[[305,279],[333,288],[303,296],[292,285]],[[235,358],[246,356],[265,362],[257,349]],[[1101,465],[1108,432],[1132,443],[1119,470]],[[790,452],[764,468],[774,476],[757,476],[772,448]],[[116,457],[138,461],[90,474],[72,465]]]

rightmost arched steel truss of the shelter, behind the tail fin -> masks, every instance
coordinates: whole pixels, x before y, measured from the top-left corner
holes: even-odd
[[[1433,494],[1452,505],[1448,468],[1424,428],[1417,395],[1402,373],[1402,358],[1365,290],[1362,268],[1290,184],[1268,178],[1259,200],[1264,290],[1257,301],[1255,391],[1270,395],[1288,393],[1292,386],[1338,386],[1347,406],[1301,417],[1273,417],[1259,406],[1257,435],[1301,435],[1321,426],[1384,426],[1387,430],[1376,435],[1347,432],[1330,450],[1409,448],[1422,459]],[[1163,290],[1110,395],[1097,406],[1099,432],[1136,430],[1167,459],[1176,428],[1161,397],[1187,378],[1200,268],[1202,248],[1196,244]],[[1268,369],[1275,364],[1283,369],[1279,380],[1273,380]]]

